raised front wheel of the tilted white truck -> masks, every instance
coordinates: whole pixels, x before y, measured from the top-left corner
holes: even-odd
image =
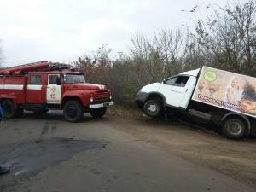
[[[148,100],[148,102],[145,102],[143,110],[148,116],[153,118],[159,117],[162,113],[160,102],[155,100]]]

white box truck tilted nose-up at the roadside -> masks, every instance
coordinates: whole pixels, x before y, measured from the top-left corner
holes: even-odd
[[[151,117],[166,114],[211,123],[230,139],[256,136],[253,77],[202,67],[143,86],[135,101]]]

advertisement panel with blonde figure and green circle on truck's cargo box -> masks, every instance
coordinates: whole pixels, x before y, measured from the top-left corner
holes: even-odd
[[[192,99],[256,117],[256,78],[202,67]]]

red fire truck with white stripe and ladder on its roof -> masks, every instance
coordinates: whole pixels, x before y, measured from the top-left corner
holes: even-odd
[[[113,105],[104,85],[87,84],[70,65],[48,61],[1,69],[0,102],[6,118],[20,117],[24,110],[63,109],[69,122],[78,122],[86,112],[101,118]]]

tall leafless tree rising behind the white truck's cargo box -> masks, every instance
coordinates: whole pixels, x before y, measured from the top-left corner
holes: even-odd
[[[216,67],[250,73],[255,66],[256,4],[231,1],[224,8],[212,5],[213,15],[196,26],[199,43],[215,56]]]

